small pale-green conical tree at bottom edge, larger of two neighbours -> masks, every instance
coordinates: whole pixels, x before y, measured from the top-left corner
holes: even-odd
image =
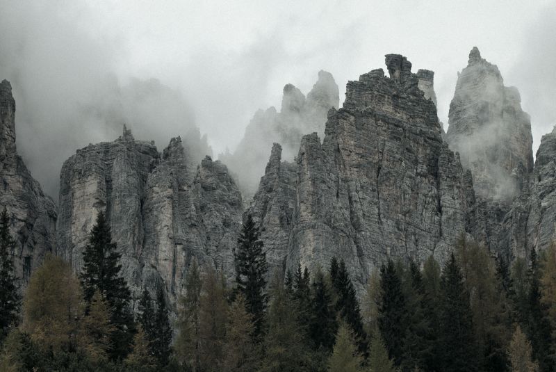
[[[336,334],[334,350],[328,359],[329,372],[359,372],[363,371],[363,357],[355,343],[354,334],[350,326],[341,323]]]

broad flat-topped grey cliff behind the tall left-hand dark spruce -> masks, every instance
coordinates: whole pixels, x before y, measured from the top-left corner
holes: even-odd
[[[90,229],[106,209],[135,295],[164,286],[175,303],[193,257],[231,276],[240,193],[222,163],[208,156],[196,170],[190,163],[180,138],[159,154],[125,128],[112,143],[78,150],[60,175],[58,254],[80,270]]]

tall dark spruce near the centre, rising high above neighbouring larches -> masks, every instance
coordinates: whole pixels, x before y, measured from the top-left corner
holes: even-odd
[[[236,284],[238,291],[245,296],[247,311],[253,314],[255,322],[255,337],[263,332],[267,295],[265,293],[266,274],[268,266],[263,241],[259,238],[259,228],[256,227],[251,215],[243,224],[238,238],[238,247],[234,252],[236,260]]]

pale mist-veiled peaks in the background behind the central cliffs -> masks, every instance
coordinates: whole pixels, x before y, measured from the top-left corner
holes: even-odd
[[[280,143],[281,156],[293,161],[302,136],[313,131],[323,134],[327,112],[337,108],[339,100],[338,86],[329,72],[318,73],[318,81],[307,97],[292,84],[286,84],[280,112],[274,107],[258,111],[236,152],[220,154],[219,159],[229,165],[242,191],[250,198],[264,175],[272,143]]]

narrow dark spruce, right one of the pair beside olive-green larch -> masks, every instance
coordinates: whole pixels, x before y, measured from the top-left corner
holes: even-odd
[[[172,327],[168,318],[168,308],[163,287],[156,290],[156,314],[154,316],[154,333],[151,339],[151,351],[159,366],[166,366],[170,362],[172,353]]]

